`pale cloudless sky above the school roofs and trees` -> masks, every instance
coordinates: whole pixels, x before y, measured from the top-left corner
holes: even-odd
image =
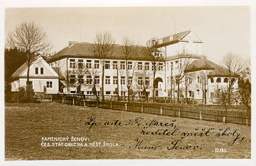
[[[52,51],[68,41],[93,42],[96,32],[110,31],[116,44],[124,36],[145,45],[151,37],[162,38],[192,30],[204,41],[204,54],[220,63],[233,52],[250,59],[250,6],[184,7],[90,7],[90,8],[6,8],[6,35],[17,24],[35,21],[47,32]]]

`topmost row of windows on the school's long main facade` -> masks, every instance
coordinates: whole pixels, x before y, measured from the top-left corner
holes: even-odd
[[[120,69],[124,70],[125,69],[125,61],[119,61],[120,62]],[[118,67],[118,61],[113,61],[113,67],[112,69],[117,69]],[[157,70],[162,71],[163,70],[163,63],[157,63],[158,68]],[[152,65],[151,69],[152,71],[156,67]],[[70,68],[76,68],[78,67],[79,69],[84,68],[84,60],[78,60],[78,66],[76,66],[76,61],[75,59],[70,59]],[[92,69],[92,60],[86,60],[86,68],[87,69]],[[99,60],[94,60],[94,69],[99,69]],[[111,61],[106,60],[105,61],[105,69],[111,69]],[[127,69],[132,70],[133,69],[133,64],[132,62],[128,62],[127,64]],[[149,70],[149,62],[144,63],[144,69]],[[143,62],[138,62],[138,70],[143,70]]]

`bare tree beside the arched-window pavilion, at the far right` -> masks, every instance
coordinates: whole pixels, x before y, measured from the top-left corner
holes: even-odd
[[[227,53],[222,58],[221,65],[228,70],[228,83],[227,83],[227,90],[228,90],[228,99],[230,104],[231,99],[231,90],[233,85],[236,83],[239,75],[241,74],[243,68],[243,60],[238,54],[233,54],[232,52]]]

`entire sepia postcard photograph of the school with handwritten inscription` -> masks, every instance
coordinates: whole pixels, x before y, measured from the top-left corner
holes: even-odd
[[[253,158],[251,6],[3,12],[5,162]]]

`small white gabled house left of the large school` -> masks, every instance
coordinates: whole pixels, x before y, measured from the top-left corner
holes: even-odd
[[[24,63],[12,74],[12,92],[26,86],[27,71],[28,66]],[[58,74],[41,56],[38,56],[29,68],[29,83],[32,84],[34,92],[58,93]]]

